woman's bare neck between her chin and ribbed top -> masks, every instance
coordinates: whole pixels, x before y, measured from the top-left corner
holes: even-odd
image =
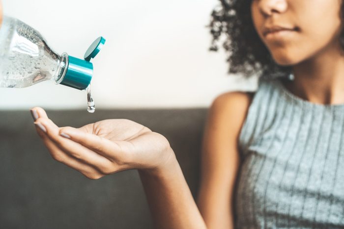
[[[344,56],[339,44],[293,66],[294,80],[287,87],[296,96],[314,103],[344,103]]]

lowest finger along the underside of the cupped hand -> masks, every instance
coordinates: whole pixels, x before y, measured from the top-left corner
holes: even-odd
[[[37,132],[39,132],[39,135],[43,139],[44,145],[48,148],[51,156],[55,160],[79,171],[84,176],[90,179],[98,179],[104,176],[104,174],[102,174],[93,166],[83,163],[77,158],[74,158],[68,155],[67,153],[64,153],[60,148],[57,147],[57,145],[52,140],[49,139],[49,137],[45,134],[45,131],[42,129],[42,127],[36,126]]]

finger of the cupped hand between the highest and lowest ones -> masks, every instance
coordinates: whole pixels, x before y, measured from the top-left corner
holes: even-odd
[[[59,135],[59,127],[57,127],[50,119],[39,118],[35,124],[40,124],[46,128],[46,135],[63,152],[81,160],[82,162],[94,166],[104,174],[113,172],[114,164],[112,161],[96,152],[87,149],[83,145],[72,141],[71,139]]]

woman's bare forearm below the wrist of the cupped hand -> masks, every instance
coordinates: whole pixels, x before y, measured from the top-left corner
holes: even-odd
[[[206,229],[174,153],[163,168],[139,174],[157,229]]]

